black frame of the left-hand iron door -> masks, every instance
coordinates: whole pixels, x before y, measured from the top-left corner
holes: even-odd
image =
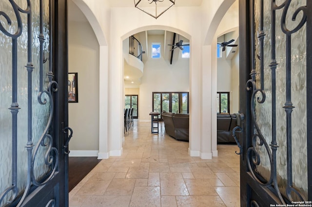
[[[50,42],[50,50],[52,48],[50,62],[52,63],[53,72],[53,75],[49,74],[49,77],[53,76],[52,80],[57,83],[57,87],[52,89],[54,110],[51,124],[52,128],[49,134],[53,137],[52,147],[56,148],[58,152],[58,154],[55,155],[55,158],[57,157],[58,160],[58,165],[55,165],[57,166],[56,171],[47,183],[39,185],[38,187],[35,185],[30,186],[29,191],[27,191],[22,203],[19,205],[23,207],[41,207],[43,205],[46,205],[47,207],[68,207],[69,205],[68,154],[66,154],[67,151],[64,148],[64,146],[68,144],[68,131],[64,131],[68,126],[67,0],[49,0],[49,2],[51,13],[50,33],[52,36],[52,41]],[[55,160],[56,159],[54,159],[53,162],[55,162]],[[30,172],[28,172],[28,176],[30,176]],[[19,179],[21,178],[22,177],[19,177]],[[21,197],[17,197],[11,204],[9,204],[9,206],[17,206],[20,200]]]

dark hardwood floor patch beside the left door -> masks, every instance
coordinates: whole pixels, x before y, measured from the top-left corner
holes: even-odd
[[[68,186],[71,191],[100,162],[98,157],[69,157]]]

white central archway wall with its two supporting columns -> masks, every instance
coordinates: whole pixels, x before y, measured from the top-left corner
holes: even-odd
[[[109,37],[108,40],[106,39],[108,47],[102,48],[103,44],[100,43],[102,54],[100,55],[99,76],[103,81],[99,85],[101,91],[99,94],[101,103],[99,105],[99,125],[103,127],[103,130],[101,127],[98,157],[107,158],[122,154],[122,109],[124,104],[122,40],[129,35],[152,29],[169,30],[190,39],[189,154],[204,159],[217,155],[216,120],[211,113],[215,111],[214,104],[210,103],[208,107],[205,105],[205,111],[203,111],[203,104],[209,100],[215,103],[214,99],[211,99],[216,92],[216,63],[211,56],[215,54],[215,25],[219,24],[221,17],[234,0],[222,0],[210,4],[205,4],[204,2],[207,1],[203,1],[199,7],[172,7],[170,12],[165,12],[157,19],[146,16],[145,13],[134,7],[112,7],[108,11],[108,1],[74,1],[75,3],[84,3],[79,8],[88,17],[91,12],[94,18],[88,18],[88,20],[92,21],[93,28],[95,28],[94,25],[100,25],[100,29],[103,31],[102,35],[105,34],[106,38]],[[98,21],[98,23],[95,24],[94,21]],[[215,43],[211,46],[213,41]],[[104,44],[104,46],[106,45]],[[105,62],[103,62],[104,60]],[[203,103],[203,101],[205,102]],[[204,115],[202,115],[203,113]],[[211,134],[207,134],[207,130]]]

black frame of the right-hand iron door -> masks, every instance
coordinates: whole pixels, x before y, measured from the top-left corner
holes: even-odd
[[[289,0],[286,0],[287,3]],[[270,204],[280,204],[281,201],[270,190],[271,187],[264,188],[253,179],[247,165],[247,150],[252,146],[250,135],[253,134],[251,111],[251,93],[246,90],[246,83],[250,80],[251,69],[253,66],[253,0],[239,0],[239,92],[240,92],[240,113],[244,114],[245,119],[241,121],[244,132],[240,135],[240,143],[243,146],[243,153],[240,155],[240,196],[241,206],[270,206]],[[275,2],[275,0],[273,0]],[[312,1],[307,0],[307,11],[312,11]],[[307,12],[307,157],[308,157],[308,198],[312,201],[312,14]],[[259,203],[253,202],[259,201]],[[285,199],[285,202],[290,202]]]

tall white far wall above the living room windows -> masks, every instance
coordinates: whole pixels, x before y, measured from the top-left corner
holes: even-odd
[[[151,50],[152,43],[161,44],[161,57],[152,58],[152,52],[149,51],[149,55],[146,57],[147,60],[144,63],[144,75],[139,93],[140,121],[151,121],[149,114],[153,111],[152,92],[189,92],[190,90],[190,59],[179,58],[174,60],[171,65],[163,50],[163,47],[167,47],[167,43],[164,44],[164,35],[149,35],[149,50]],[[179,57],[181,56],[180,49],[176,49],[174,53]]]

